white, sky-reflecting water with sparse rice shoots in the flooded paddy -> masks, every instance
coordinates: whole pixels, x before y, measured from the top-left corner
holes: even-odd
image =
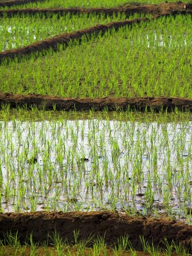
[[[192,122],[0,122],[2,211],[170,214],[191,221]]]

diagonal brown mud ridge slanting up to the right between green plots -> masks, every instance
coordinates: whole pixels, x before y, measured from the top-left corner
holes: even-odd
[[[124,20],[120,22],[111,22],[105,25],[96,25],[91,28],[81,29],[79,31],[74,31],[72,33],[63,33],[52,38],[48,38],[39,42],[35,42],[25,47],[19,49],[12,49],[4,52],[0,52],[0,63],[4,59],[13,59],[13,58],[22,58],[29,56],[32,53],[42,52],[47,49],[52,48],[54,51],[58,49],[59,44],[68,45],[69,42],[72,42],[77,39],[81,39],[83,36],[98,35],[99,33],[104,34],[110,29],[119,29],[123,26],[132,26],[132,24],[139,24],[140,22],[148,22],[150,19],[133,19],[133,20]]]

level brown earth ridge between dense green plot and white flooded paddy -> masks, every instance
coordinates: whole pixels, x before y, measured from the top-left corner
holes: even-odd
[[[0,93],[0,106],[3,104],[10,104],[10,108],[17,108],[17,106],[36,106],[41,109],[55,109],[55,110],[72,110],[77,111],[95,109],[102,110],[108,108],[110,110],[116,109],[136,109],[145,111],[146,109],[154,109],[159,111],[167,109],[172,111],[175,108],[180,110],[192,111],[192,99],[176,98],[176,97],[138,97],[138,98],[62,98],[46,95],[20,95],[12,93]]]

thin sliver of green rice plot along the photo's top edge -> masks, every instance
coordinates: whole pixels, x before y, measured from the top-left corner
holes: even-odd
[[[168,2],[174,2],[173,0],[168,0]],[[176,1],[175,1],[176,2]],[[116,7],[125,4],[158,4],[162,3],[162,0],[137,0],[137,1],[127,1],[127,0],[47,0],[39,3],[29,3],[22,4],[20,6],[12,6],[11,8],[69,8],[69,7],[81,7],[81,8],[91,8],[91,7]],[[8,9],[8,8],[6,8]]]

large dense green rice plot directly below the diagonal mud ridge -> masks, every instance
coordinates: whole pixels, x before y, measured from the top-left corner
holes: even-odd
[[[163,17],[1,64],[0,92],[191,98],[191,25],[191,16]]]

